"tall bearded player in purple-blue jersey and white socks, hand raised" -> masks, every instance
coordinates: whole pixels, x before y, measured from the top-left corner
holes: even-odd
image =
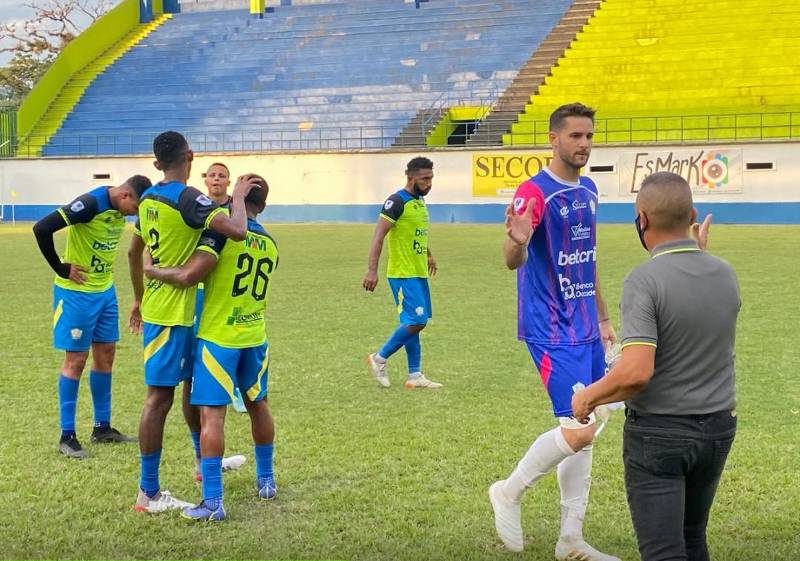
[[[583,539],[589,498],[594,415],[573,417],[572,394],[606,372],[604,345],[616,341],[600,293],[597,187],[580,175],[589,160],[594,110],[573,103],[550,116],[553,159],[523,182],[506,209],[503,255],[517,270],[518,337],[528,346],[559,426],[539,436],[509,477],[489,488],[495,528],[505,546],[522,551],[520,502],[557,468],[561,488],[559,560],[619,561]]]

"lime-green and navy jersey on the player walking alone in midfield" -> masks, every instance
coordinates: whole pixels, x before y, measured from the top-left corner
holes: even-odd
[[[383,203],[381,218],[389,230],[389,262],[386,276],[405,279],[428,278],[428,208],[422,197],[401,189]]]

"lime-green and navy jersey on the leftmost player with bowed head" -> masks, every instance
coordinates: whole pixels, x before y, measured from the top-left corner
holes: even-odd
[[[63,261],[86,269],[86,282],[77,284],[56,275],[55,284],[81,292],[103,292],[114,284],[114,262],[125,217],[111,206],[108,187],[98,187],[58,209],[67,226]]]

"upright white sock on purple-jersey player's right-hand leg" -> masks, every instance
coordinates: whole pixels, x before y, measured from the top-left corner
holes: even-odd
[[[570,542],[583,540],[583,517],[589,503],[592,484],[592,445],[558,464],[561,487],[561,538]]]

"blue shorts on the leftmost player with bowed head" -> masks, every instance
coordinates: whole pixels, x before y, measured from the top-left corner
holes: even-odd
[[[88,351],[92,343],[119,341],[119,306],[114,287],[81,292],[53,285],[53,346]]]

